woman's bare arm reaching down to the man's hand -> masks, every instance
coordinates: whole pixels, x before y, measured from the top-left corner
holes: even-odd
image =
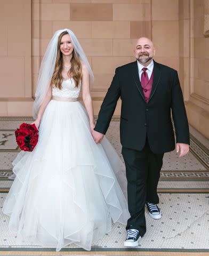
[[[95,124],[94,124],[92,98],[90,94],[90,76],[89,76],[89,71],[84,65],[82,66],[82,98],[84,101],[86,111],[89,115],[90,129],[92,132]]]

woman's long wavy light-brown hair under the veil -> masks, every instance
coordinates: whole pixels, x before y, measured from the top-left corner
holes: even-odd
[[[68,34],[67,31],[63,31],[58,38],[57,58],[55,61],[55,68],[54,68],[54,73],[51,81],[51,86],[57,87],[59,89],[62,88],[62,81],[63,81],[63,77],[62,77],[63,59],[62,59],[62,53],[60,51],[60,41],[62,39],[62,36],[67,34]],[[73,50],[73,53],[72,53],[71,68],[68,71],[68,76],[74,79],[75,85],[76,87],[78,87],[82,79],[82,64],[80,59],[76,55],[75,50]]]

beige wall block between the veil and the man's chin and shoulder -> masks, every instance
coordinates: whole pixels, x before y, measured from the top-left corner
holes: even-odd
[[[115,74],[115,69],[131,62],[130,57],[92,57],[94,74]]]

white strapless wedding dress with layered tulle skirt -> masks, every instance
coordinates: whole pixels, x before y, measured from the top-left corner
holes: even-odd
[[[80,89],[68,79],[52,94],[77,98]],[[10,216],[9,229],[17,231],[20,244],[59,251],[75,243],[91,250],[111,230],[111,220],[126,224],[130,217],[123,193],[125,167],[106,138],[94,142],[78,101],[51,100],[34,151],[21,151],[13,165],[16,178],[3,212]]]

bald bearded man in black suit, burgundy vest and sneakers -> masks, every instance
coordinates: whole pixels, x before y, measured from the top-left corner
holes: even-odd
[[[146,233],[145,205],[152,218],[161,217],[157,185],[163,155],[175,149],[171,110],[176,151],[180,156],[189,151],[189,127],[177,71],[153,60],[155,49],[148,38],[138,39],[134,55],[136,61],[116,68],[92,132],[95,142],[101,142],[120,97],[120,142],[131,214],[124,245],[130,247],[138,246]]]

